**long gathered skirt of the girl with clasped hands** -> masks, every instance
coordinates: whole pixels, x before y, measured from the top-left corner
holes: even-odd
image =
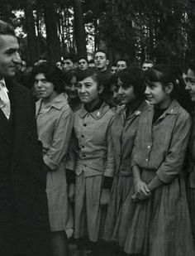
[[[155,171],[142,171],[149,183]],[[178,176],[152,192],[150,199],[131,200],[132,189],[121,207],[112,239],[126,254],[193,256],[194,245],[185,182]]]

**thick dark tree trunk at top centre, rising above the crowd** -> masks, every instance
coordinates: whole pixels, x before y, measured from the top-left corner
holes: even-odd
[[[74,21],[75,21],[74,35],[76,37],[78,56],[83,56],[87,58],[83,10],[82,10],[82,5],[80,0],[74,0]]]

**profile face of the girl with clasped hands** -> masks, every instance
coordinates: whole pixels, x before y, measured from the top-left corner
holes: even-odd
[[[151,105],[163,104],[168,99],[168,94],[160,82],[153,82],[146,85],[145,95]]]

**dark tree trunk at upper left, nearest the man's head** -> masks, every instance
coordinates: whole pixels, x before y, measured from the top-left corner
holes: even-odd
[[[29,59],[33,63],[38,58],[38,44],[36,37],[35,20],[33,16],[33,1],[27,0],[25,7],[26,31],[29,49]]]

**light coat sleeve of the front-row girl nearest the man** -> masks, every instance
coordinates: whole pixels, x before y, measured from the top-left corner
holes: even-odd
[[[72,111],[65,109],[55,125],[50,149],[44,156],[44,162],[51,170],[55,170],[59,166],[59,162],[67,153],[73,122],[74,117]]]

